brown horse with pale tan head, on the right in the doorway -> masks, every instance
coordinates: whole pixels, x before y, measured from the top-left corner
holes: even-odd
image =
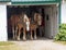
[[[31,39],[33,39],[32,32],[34,32],[34,39],[36,39],[36,28],[41,25],[42,16],[40,13],[34,13],[34,21],[30,23]]]

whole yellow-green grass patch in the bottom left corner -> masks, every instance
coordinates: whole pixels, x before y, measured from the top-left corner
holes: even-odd
[[[0,41],[0,50],[20,50],[20,48],[14,42]]]

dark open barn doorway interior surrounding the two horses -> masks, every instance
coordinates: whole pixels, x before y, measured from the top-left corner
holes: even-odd
[[[8,20],[8,39],[12,39],[12,28],[10,23],[10,17],[13,14],[20,14],[22,11],[30,16],[31,12],[36,11],[40,12],[42,15],[42,25],[36,29],[37,37],[47,37],[53,38],[54,34],[52,29],[53,25],[56,27],[57,25],[57,14],[54,14],[54,9],[57,10],[57,7],[55,4],[50,5],[7,5],[7,20]],[[53,20],[53,14],[55,16],[55,20]],[[52,18],[53,17],[53,18]],[[53,22],[54,21],[54,22]],[[53,24],[56,23],[56,24]]]

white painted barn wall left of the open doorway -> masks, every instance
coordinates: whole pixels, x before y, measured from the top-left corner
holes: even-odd
[[[0,41],[8,40],[7,33],[7,5],[0,4]]]

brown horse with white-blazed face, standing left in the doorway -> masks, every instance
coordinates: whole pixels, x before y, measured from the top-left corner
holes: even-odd
[[[11,16],[11,25],[12,25],[12,33],[13,33],[13,39],[20,40],[21,35],[21,28],[23,28],[23,40],[25,39],[25,29],[26,29],[26,22],[29,21],[26,14],[22,13],[20,15],[12,15]],[[16,32],[19,30],[18,35]]]

